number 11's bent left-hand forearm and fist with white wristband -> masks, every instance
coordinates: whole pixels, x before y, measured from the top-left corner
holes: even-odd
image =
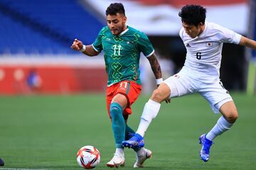
[[[83,45],[82,41],[75,39],[73,41],[73,44],[70,47],[73,50],[77,50],[80,51],[82,53],[84,53],[85,55],[88,55],[90,57],[93,57],[95,55],[98,55],[100,52],[97,52],[94,50],[94,48],[92,47],[92,45]]]

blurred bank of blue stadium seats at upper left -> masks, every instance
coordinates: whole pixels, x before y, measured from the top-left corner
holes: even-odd
[[[0,54],[75,54],[74,38],[93,42],[103,23],[73,0],[1,0]]]

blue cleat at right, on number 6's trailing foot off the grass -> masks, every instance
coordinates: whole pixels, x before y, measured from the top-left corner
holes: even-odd
[[[210,146],[213,145],[213,141],[208,140],[206,134],[203,134],[199,137],[199,143],[202,145],[200,157],[204,162],[208,162],[210,157]]]

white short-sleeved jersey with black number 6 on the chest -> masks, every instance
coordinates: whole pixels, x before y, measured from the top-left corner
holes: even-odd
[[[220,62],[223,42],[239,44],[241,35],[215,23],[205,23],[203,33],[191,38],[184,28],[180,37],[186,47],[186,61],[183,69],[188,69],[198,81],[213,81],[220,77]]]

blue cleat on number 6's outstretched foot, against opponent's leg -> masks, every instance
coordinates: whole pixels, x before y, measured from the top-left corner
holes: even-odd
[[[122,142],[122,146],[129,147],[129,148],[144,147],[143,137],[138,133],[135,133],[135,135],[131,137],[129,140],[124,140],[124,142]]]

